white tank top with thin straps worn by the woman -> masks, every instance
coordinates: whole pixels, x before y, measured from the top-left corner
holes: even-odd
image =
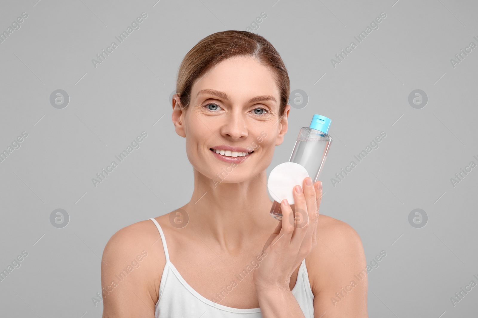
[[[168,247],[166,246],[163,229],[154,218],[150,220],[158,228],[166,256],[166,264],[159,285],[159,299],[155,306],[155,318],[262,318],[261,308],[232,308],[224,306],[201,296],[189,286],[176,267],[169,261]],[[223,294],[224,292],[227,293],[226,290],[223,291]],[[314,294],[310,287],[309,276],[305,267],[305,258],[299,267],[297,282],[292,289],[292,294],[297,299],[305,318],[314,318]]]

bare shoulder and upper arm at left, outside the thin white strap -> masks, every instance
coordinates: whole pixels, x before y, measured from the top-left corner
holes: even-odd
[[[103,317],[136,317],[138,308],[145,310],[140,310],[143,317],[154,317],[151,308],[158,300],[165,262],[160,234],[152,220],[123,227],[111,236],[101,262]]]

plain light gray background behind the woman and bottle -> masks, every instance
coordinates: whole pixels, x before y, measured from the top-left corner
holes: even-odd
[[[450,62],[478,44],[476,1],[2,1],[0,31],[22,12],[21,28],[0,43],[0,150],[28,133],[0,163],[0,269],[28,256],[0,282],[2,317],[101,317],[92,297],[109,237],[184,205],[193,190],[168,100],[180,62],[202,38],[245,31],[261,12],[254,32],[281,54],[291,91],[309,99],[292,108],[268,172],[289,160],[313,114],[332,119],[321,213],[359,233],[368,262],[387,253],[369,273],[369,316],[477,315],[478,287],[450,301],[478,283],[478,168],[450,181],[478,164],[478,48]],[[140,29],[95,68],[91,60],[141,12]],[[334,68],[335,54],[380,12],[379,29]],[[57,89],[70,97],[64,109],[50,104]],[[422,109],[408,103],[415,89],[428,96]],[[91,179],[142,131],[141,147],[95,188]],[[331,178],[382,131],[380,147],[334,187]],[[50,223],[57,208],[70,216],[66,227]],[[422,228],[409,224],[415,208],[428,215]]]

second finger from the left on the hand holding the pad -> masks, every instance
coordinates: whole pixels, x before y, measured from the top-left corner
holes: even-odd
[[[305,184],[305,181],[303,184]],[[307,202],[305,199],[305,194],[303,193],[302,187],[300,185],[296,185],[294,187],[293,196],[294,219],[292,220],[292,224],[294,227],[294,232],[291,238],[291,244],[296,245],[298,250],[302,245],[302,242],[304,241],[305,234],[307,233],[307,229],[309,227],[309,217],[307,212]]]

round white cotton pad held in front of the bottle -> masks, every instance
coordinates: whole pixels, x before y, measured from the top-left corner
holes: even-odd
[[[293,188],[296,185],[302,187],[304,179],[308,176],[307,170],[302,165],[284,162],[272,169],[267,180],[267,189],[275,201],[281,203],[283,199],[287,199],[289,204],[294,204]]]

